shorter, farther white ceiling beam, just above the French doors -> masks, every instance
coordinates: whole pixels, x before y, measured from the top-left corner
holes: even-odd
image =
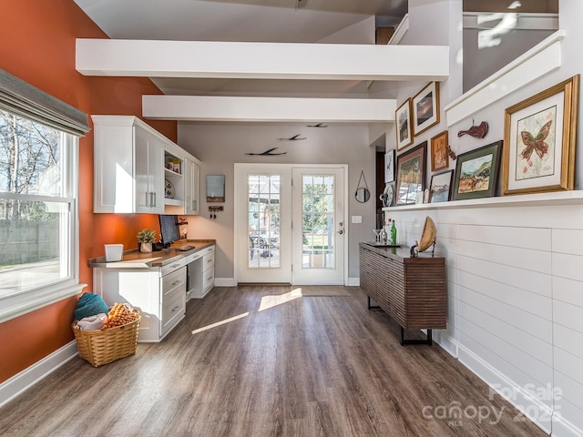
[[[394,99],[142,96],[150,119],[251,122],[394,122]]]

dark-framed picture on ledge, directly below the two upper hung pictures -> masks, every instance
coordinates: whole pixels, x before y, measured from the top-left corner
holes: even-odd
[[[418,193],[425,189],[427,141],[397,157],[396,205],[414,204]]]

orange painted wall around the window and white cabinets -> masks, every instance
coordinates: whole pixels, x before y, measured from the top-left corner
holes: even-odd
[[[91,114],[141,116],[142,94],[161,94],[147,78],[87,77],[75,69],[75,40],[107,37],[73,0],[0,0],[0,68]],[[89,118],[89,122],[91,122]],[[173,121],[147,121],[171,140]],[[92,290],[87,259],[104,255],[103,245],[138,246],[139,229],[159,229],[158,216],[93,214],[93,134],[80,140],[79,270]],[[77,297],[0,323],[0,382],[74,339],[71,323]]]

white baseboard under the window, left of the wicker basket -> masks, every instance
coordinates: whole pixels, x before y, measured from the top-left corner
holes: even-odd
[[[0,407],[77,356],[77,342],[66,343],[50,355],[0,384]]]

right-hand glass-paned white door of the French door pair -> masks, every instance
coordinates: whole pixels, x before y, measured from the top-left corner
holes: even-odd
[[[344,284],[344,169],[292,170],[292,281]]]

